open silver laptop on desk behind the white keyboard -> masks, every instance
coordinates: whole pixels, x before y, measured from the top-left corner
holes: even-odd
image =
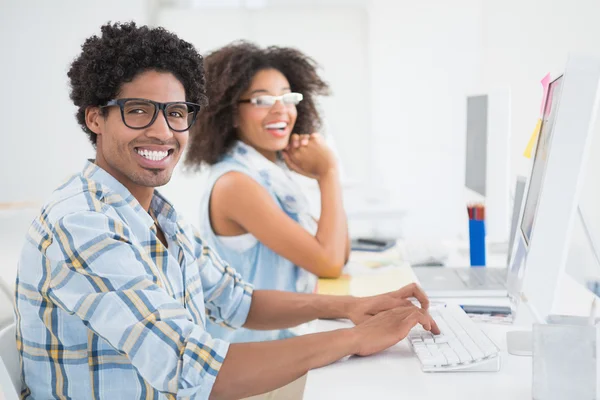
[[[413,267],[417,279],[429,297],[506,297],[508,266],[519,225],[526,180],[517,178],[512,210],[509,248],[505,268]]]

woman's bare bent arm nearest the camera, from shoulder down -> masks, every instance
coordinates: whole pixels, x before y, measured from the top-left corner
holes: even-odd
[[[326,192],[336,190],[331,181],[324,186]],[[320,277],[335,278],[340,276],[346,262],[347,230],[343,211],[327,209],[335,203],[333,200],[325,202],[325,213],[317,235],[313,236],[290,218],[258,182],[244,173],[229,172],[213,188],[210,219],[218,235],[249,232],[295,265]],[[333,215],[328,218],[329,213]],[[338,221],[341,218],[343,222]]]

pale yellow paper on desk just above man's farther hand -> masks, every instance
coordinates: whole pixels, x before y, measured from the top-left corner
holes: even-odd
[[[393,267],[370,274],[353,275],[350,294],[357,297],[374,296],[398,290],[416,281],[409,266]]]

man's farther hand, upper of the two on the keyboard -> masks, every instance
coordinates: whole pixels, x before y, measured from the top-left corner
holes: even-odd
[[[354,298],[349,304],[348,318],[358,325],[382,311],[412,305],[408,300],[410,297],[421,303],[421,309],[426,311],[429,308],[429,299],[425,292],[416,283],[411,283],[394,292]]]

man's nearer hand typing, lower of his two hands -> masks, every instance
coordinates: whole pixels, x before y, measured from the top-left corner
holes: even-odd
[[[369,356],[383,351],[404,339],[416,324],[421,324],[433,334],[440,333],[429,313],[412,304],[380,312],[352,328],[355,340],[354,354]]]

